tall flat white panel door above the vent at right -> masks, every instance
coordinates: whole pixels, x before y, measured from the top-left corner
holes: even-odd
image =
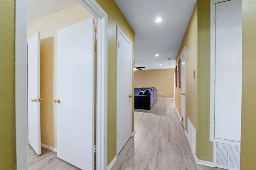
[[[215,138],[240,141],[242,0],[215,5]]]

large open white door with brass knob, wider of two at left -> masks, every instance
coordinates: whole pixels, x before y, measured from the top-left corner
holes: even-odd
[[[57,31],[57,156],[94,169],[94,19]]]

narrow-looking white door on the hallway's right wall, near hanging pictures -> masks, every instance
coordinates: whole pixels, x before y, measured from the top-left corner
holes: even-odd
[[[186,129],[186,47],[180,54],[180,112],[181,121]]]

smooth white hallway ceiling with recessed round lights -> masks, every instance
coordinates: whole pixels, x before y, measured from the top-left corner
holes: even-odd
[[[145,66],[144,69],[175,68],[196,0],[115,1],[135,31],[135,66]],[[155,23],[156,17],[164,20]],[[172,60],[168,61],[168,58]]]

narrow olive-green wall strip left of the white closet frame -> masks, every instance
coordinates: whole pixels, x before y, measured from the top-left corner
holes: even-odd
[[[196,156],[213,162],[210,136],[210,0],[198,0],[198,130]]]

